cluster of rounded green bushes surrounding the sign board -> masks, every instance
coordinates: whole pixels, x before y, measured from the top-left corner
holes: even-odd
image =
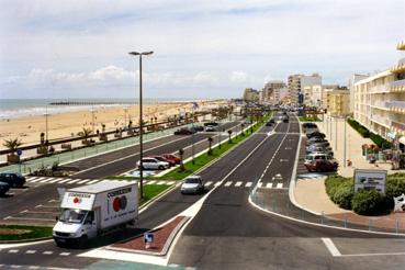
[[[393,198],[405,193],[405,173],[387,176],[385,195],[375,190],[355,193],[353,179],[340,176],[329,176],[325,180],[325,188],[330,200],[340,207],[353,210],[358,214],[375,215],[393,210]]]

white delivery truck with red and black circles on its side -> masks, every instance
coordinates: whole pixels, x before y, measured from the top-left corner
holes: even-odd
[[[113,227],[133,224],[138,216],[137,183],[105,181],[69,189],[53,229],[56,245],[86,245]]]

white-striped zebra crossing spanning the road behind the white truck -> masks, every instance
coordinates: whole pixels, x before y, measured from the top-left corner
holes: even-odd
[[[27,183],[63,183],[63,184],[93,184],[106,181],[124,181],[124,180],[108,180],[108,179],[71,179],[71,178],[53,178],[53,177],[27,177]],[[173,180],[144,180],[144,184],[166,184],[172,185],[179,181]],[[252,182],[244,181],[226,181],[226,182],[204,182],[205,188],[224,187],[224,188],[251,188]],[[258,188],[261,189],[284,189],[282,182],[259,182]]]

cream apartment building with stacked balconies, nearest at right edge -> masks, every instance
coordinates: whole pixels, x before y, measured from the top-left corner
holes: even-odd
[[[405,42],[397,45],[405,52]],[[405,58],[353,85],[355,119],[372,132],[405,145]],[[402,145],[402,147],[404,147]]]

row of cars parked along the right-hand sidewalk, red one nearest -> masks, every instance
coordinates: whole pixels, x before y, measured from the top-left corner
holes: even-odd
[[[337,171],[339,165],[325,134],[319,132],[315,123],[304,123],[303,130],[307,137],[304,161],[306,169],[317,172]]]

